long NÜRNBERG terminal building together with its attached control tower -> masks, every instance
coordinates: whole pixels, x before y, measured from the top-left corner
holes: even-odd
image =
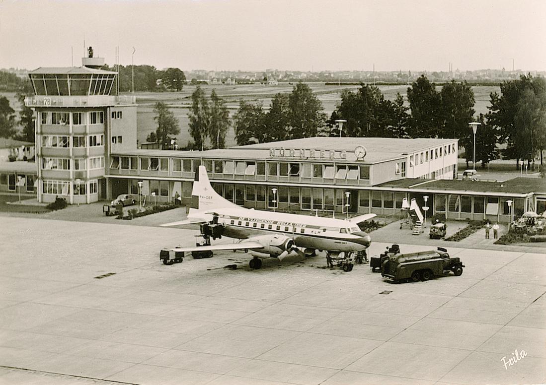
[[[103,63],[89,57],[82,67],[29,74],[40,202],[126,193],[166,202],[178,193],[189,204],[194,172],[204,165],[219,194],[248,208],[399,215],[402,199],[415,198],[429,216],[505,222],[546,210],[543,179],[457,181],[456,139],[312,137],[207,151],[139,149],[135,98],[116,94],[117,73],[99,69]]]

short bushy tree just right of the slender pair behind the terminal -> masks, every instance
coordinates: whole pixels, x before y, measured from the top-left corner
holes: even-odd
[[[260,142],[265,136],[265,113],[261,103],[252,104],[242,100],[233,117],[235,140],[239,146]]]

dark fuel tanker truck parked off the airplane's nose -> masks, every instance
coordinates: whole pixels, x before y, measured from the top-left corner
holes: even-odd
[[[462,274],[465,267],[459,258],[452,258],[444,248],[437,250],[394,254],[384,260],[381,265],[381,275],[391,281],[419,280],[428,281],[434,276],[442,276],[453,272]]]

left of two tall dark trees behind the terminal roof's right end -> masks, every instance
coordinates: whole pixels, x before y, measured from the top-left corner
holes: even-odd
[[[407,89],[410,102],[411,137],[440,137],[442,134],[441,97],[436,85],[421,75]]]

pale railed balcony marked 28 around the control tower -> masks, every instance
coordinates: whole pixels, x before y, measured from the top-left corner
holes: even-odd
[[[27,107],[108,107],[136,104],[135,95],[34,95],[25,98]]]

